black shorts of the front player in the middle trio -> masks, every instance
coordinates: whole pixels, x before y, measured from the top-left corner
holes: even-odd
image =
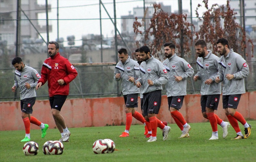
[[[143,94],[142,112],[143,116],[148,116],[148,113],[158,114],[161,106],[161,90],[156,90]]]

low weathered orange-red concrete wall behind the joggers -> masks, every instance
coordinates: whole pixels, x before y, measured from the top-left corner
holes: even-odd
[[[138,101],[140,103],[140,99]],[[140,105],[140,104],[139,104]],[[55,123],[52,118],[50,103],[48,100],[37,100],[33,107],[32,116],[43,123],[49,124],[49,128],[54,128]],[[140,107],[136,108],[140,111]],[[245,119],[256,120],[256,91],[247,92],[241,96],[238,111]],[[180,110],[188,123],[205,122],[200,108],[200,95],[187,95],[184,98],[183,106]],[[220,97],[219,110],[216,114],[223,120],[227,117],[222,109],[222,96]],[[100,127],[120,125],[125,123],[125,105],[123,97],[110,98],[84,98],[68,99],[61,109],[67,127]],[[168,111],[168,101],[166,96],[162,96],[162,104],[157,118],[168,123],[174,123]],[[133,118],[132,124],[141,124]],[[24,124],[21,119],[20,102],[0,102],[0,130],[22,130]],[[39,129],[31,124],[31,129]]]

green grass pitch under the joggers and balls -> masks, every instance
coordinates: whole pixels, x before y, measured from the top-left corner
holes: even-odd
[[[208,140],[212,135],[209,122],[189,123],[191,131],[189,138],[178,139],[181,134],[176,124],[168,124],[172,128],[169,138],[163,141],[162,131],[157,128],[157,141],[147,143],[144,138],[144,126],[132,125],[130,136],[118,137],[125,126],[109,127],[84,127],[69,128],[71,132],[70,142],[64,144],[62,155],[44,155],[42,146],[49,140],[59,140],[57,129],[48,129],[47,135],[42,139],[41,130],[31,130],[31,141],[39,145],[39,153],[36,156],[25,156],[22,147],[25,142],[25,130],[0,131],[0,161],[14,162],[71,162],[71,161],[104,161],[104,162],[255,162],[256,161],[256,121],[249,120],[252,125],[252,134],[247,139],[231,140],[236,136],[232,127],[228,129],[228,136],[222,138],[222,128],[219,129],[219,140]],[[239,123],[244,133],[244,127]],[[98,139],[112,139],[116,149],[109,154],[94,154],[92,144]]]

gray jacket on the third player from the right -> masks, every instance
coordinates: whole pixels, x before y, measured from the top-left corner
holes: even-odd
[[[187,95],[187,78],[194,74],[194,69],[176,53],[170,59],[166,58],[163,64],[169,76],[169,81],[166,84],[167,97]],[[175,81],[175,76],[181,76],[182,81]]]

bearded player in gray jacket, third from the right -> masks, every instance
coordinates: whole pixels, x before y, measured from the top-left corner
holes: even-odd
[[[166,84],[169,111],[182,132],[179,138],[189,137],[188,132],[191,127],[179,109],[182,107],[184,96],[187,95],[187,78],[193,75],[194,69],[185,59],[176,55],[173,43],[164,44],[164,54],[166,59],[163,64],[169,76],[169,81]]]

